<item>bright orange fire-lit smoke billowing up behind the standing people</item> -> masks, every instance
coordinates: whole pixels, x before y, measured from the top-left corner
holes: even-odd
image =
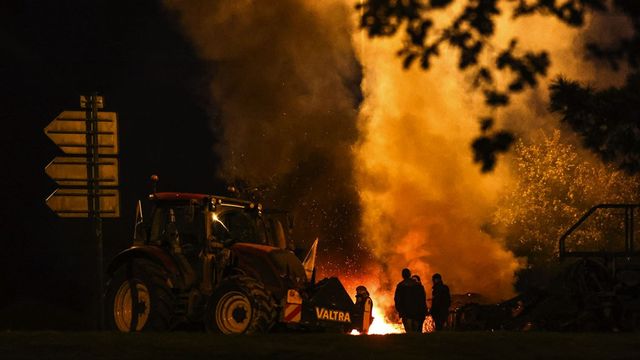
[[[514,23],[504,12],[496,44],[504,48],[519,37],[527,48],[548,50],[552,67],[538,89],[514,97],[511,107],[494,114],[499,125],[525,138],[536,129],[558,127],[546,110],[548,81],[558,74],[591,82],[604,78],[603,86],[619,83],[623,76],[603,76],[584,59],[584,41],[590,40],[584,34],[607,23],[590,19],[581,33],[551,17]],[[355,148],[364,237],[385,264],[388,284],[399,277],[398,269],[409,266],[423,279],[442,273],[454,292],[506,299],[523,260],[504,249],[488,223],[501,190],[510,184],[510,161],[502,158],[488,175],[472,164],[469,144],[478,134],[479,114],[487,110],[457,70],[458,54],[443,53],[428,72],[405,71],[395,56],[400,41],[354,36],[364,68],[362,137]]]

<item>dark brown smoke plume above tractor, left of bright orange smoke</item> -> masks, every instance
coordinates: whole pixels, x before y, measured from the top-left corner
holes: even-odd
[[[321,249],[347,254],[357,252],[351,146],[361,72],[352,8],[315,3],[166,2],[212,64],[221,177],[266,186],[268,205],[294,210],[298,240],[319,237]]]

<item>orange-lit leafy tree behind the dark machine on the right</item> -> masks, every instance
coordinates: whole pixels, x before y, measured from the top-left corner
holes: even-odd
[[[612,164],[582,160],[576,148],[560,138],[556,130],[536,144],[516,142],[515,183],[494,214],[493,223],[503,229],[509,250],[534,267],[557,261],[558,239],[594,204],[640,200],[637,176]],[[601,222],[614,224],[608,220]],[[599,246],[599,238],[591,235],[580,245]]]

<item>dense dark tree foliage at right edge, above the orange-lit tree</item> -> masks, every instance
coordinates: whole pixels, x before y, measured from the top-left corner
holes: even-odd
[[[584,146],[602,161],[616,164],[631,174],[640,172],[640,1],[615,0],[615,9],[633,25],[633,35],[601,47],[587,44],[588,53],[612,69],[626,63],[630,69],[621,87],[596,91],[588,85],[564,78],[550,86],[550,110],[561,115],[581,138]]]

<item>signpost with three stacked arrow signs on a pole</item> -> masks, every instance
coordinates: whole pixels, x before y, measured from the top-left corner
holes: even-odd
[[[99,326],[104,328],[102,218],[120,216],[118,180],[118,118],[99,112],[102,96],[80,97],[84,111],[63,111],[44,129],[62,149],[45,172],[60,186],[46,199],[58,216],[89,218],[97,244]]]

